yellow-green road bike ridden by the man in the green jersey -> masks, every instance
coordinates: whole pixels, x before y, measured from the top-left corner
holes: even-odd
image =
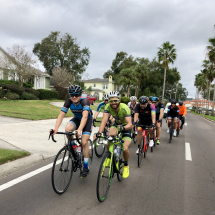
[[[111,180],[115,174],[117,175],[119,182],[123,180],[124,159],[122,151],[124,151],[124,140],[122,140],[122,137],[119,137],[119,135],[118,137],[110,136],[107,138],[109,149],[103,156],[97,177],[96,193],[99,202],[103,202],[106,199],[110,189]],[[119,149],[119,156],[115,157],[114,153]]]

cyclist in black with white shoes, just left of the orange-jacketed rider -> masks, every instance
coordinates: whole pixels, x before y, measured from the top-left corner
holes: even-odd
[[[177,120],[179,117],[179,108],[176,105],[176,100],[173,99],[171,101],[171,105],[169,105],[168,110],[167,110],[167,118],[168,118],[168,129],[167,132],[169,133],[169,128],[172,122],[172,119],[174,119],[174,133],[173,136],[176,137],[176,128],[177,128]]]

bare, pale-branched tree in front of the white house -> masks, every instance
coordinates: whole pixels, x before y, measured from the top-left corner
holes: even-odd
[[[18,77],[19,86],[23,86],[24,81],[32,75],[38,74],[37,61],[32,55],[25,51],[25,46],[13,45],[8,48],[8,53],[1,58],[2,65],[8,73],[8,76]]]

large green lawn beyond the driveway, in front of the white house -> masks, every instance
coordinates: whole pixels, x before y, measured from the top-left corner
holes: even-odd
[[[0,100],[0,115],[30,120],[56,119],[61,107],[49,104],[50,102],[64,102],[61,100]],[[97,105],[90,106],[92,110]],[[71,111],[67,117],[73,116]]]

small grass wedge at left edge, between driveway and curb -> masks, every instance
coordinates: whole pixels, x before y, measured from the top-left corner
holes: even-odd
[[[0,149],[0,165],[29,155],[29,152]]]

